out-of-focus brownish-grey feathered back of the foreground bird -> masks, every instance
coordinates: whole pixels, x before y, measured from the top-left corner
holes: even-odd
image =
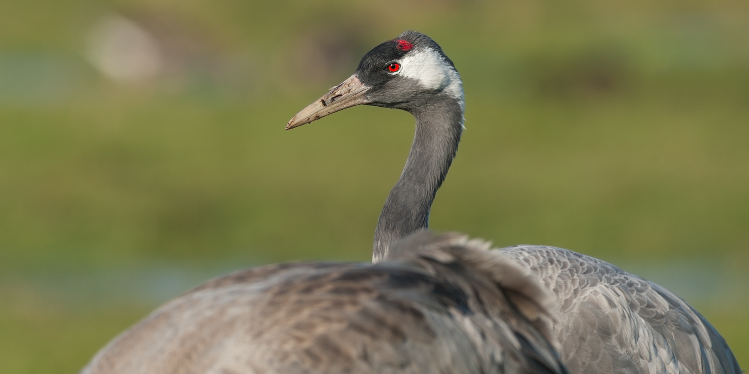
[[[235,272],[160,307],[82,374],[567,374],[554,299],[487,248],[422,232],[376,265]]]

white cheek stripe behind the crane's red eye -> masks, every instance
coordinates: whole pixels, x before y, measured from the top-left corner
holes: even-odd
[[[409,53],[401,60],[401,71],[398,73],[415,79],[428,90],[444,91],[463,105],[461,76],[434,49],[425,48]]]

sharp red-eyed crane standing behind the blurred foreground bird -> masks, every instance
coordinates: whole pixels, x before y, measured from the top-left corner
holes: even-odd
[[[393,242],[428,228],[431,204],[458,150],[464,96],[452,61],[415,31],[372,49],[347,82],[360,85],[357,100],[346,101],[348,93],[333,88],[322,99],[339,104],[320,111],[313,103],[287,129],[357,104],[399,108],[416,117],[413,147],[375,230],[376,263]],[[741,373],[715,328],[655,283],[560,248],[518,246],[494,253],[524,263],[556,295],[562,317],[554,334],[572,373]]]

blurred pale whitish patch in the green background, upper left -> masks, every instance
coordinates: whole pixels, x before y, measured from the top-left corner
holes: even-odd
[[[88,36],[88,61],[103,75],[123,85],[157,78],[164,67],[156,38],[123,16],[106,16]]]

